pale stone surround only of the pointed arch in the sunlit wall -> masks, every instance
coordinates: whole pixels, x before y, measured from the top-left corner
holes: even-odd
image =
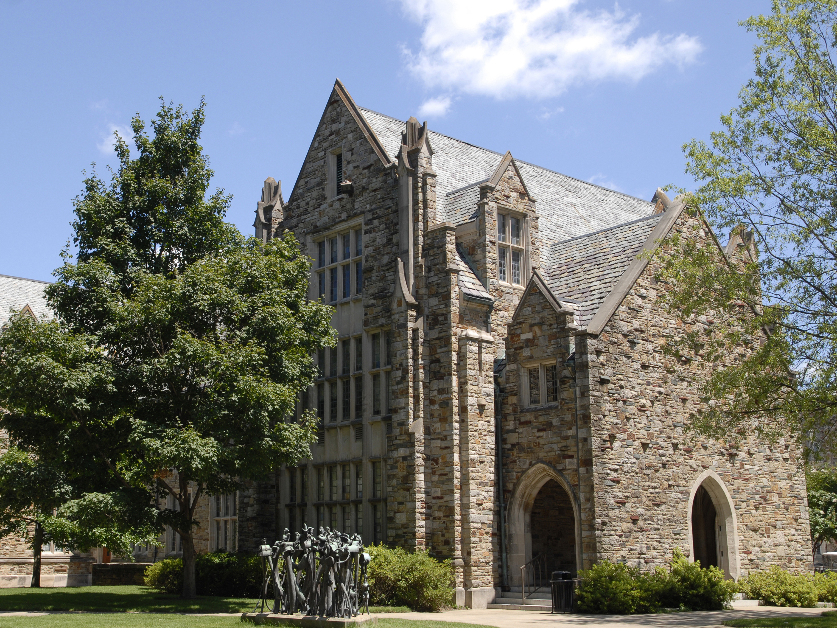
[[[712,501],[716,512],[717,551],[719,568],[723,569],[727,578],[736,580],[741,575],[741,560],[738,554],[738,522],[735,512],[735,503],[727,490],[727,486],[715,471],[706,469],[700,476],[697,476],[692,484],[689,494],[689,504],[686,509],[686,521],[689,530],[689,560],[695,560],[695,530],[692,521],[692,509],[695,506],[696,496],[703,488]]]

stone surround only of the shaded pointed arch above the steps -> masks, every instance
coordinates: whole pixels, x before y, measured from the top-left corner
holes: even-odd
[[[575,523],[575,563],[576,569],[583,569],[581,544],[581,508],[578,495],[567,476],[546,462],[536,462],[516,481],[511,492],[511,499],[506,510],[508,526],[509,584],[521,585],[520,568],[531,560],[531,510],[538,492],[548,481],[554,480],[567,492],[573,506]]]

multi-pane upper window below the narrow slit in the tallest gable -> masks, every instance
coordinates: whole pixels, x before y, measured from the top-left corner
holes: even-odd
[[[363,290],[362,229],[337,229],[316,242],[317,296],[328,303],[349,299]]]

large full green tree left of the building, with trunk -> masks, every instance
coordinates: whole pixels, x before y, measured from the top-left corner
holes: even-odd
[[[137,156],[117,139],[110,184],[94,173],[75,199],[78,259],[65,251],[46,290],[58,320],[17,316],[0,333],[0,427],[68,474],[80,501],[64,533],[90,543],[126,520],[111,535],[122,549],[171,526],[187,596],[198,500],[311,455],[313,413],[288,417],[316,376],[311,354],[335,342],[293,234],[263,244],[224,222],[203,110],[163,103],[153,138],[134,118]],[[161,494],[177,507],[158,509]]]

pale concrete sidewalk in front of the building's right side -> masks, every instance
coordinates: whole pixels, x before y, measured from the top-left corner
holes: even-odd
[[[819,615],[828,609],[788,609],[776,606],[751,606],[737,610],[704,610],[660,615],[551,615],[532,610],[448,610],[442,613],[381,613],[379,618],[401,617],[408,620],[460,621],[465,624],[495,625],[497,628],[696,628],[720,625],[723,620],[751,617]]]

